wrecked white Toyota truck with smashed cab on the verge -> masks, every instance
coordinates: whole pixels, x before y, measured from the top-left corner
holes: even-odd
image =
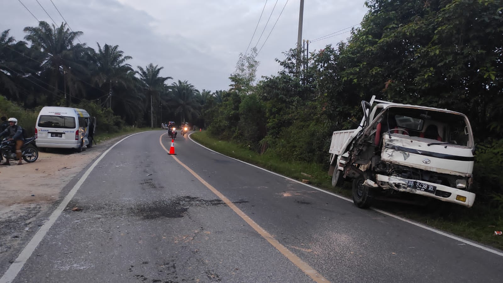
[[[332,134],[332,186],[352,180],[353,201],[361,208],[376,194],[397,192],[473,205],[475,145],[466,115],[375,96],[362,108],[356,129]]]

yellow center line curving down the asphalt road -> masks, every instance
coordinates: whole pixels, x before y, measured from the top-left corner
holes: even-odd
[[[166,133],[163,133],[159,137],[159,143],[160,146],[166,151],[166,153],[169,153],[170,151],[167,150],[164,145],[162,144],[162,136],[165,135]],[[266,239],[273,247],[275,247],[279,252],[281,252],[286,258],[288,258],[293,264],[295,264],[297,267],[299,267],[302,272],[307,274],[309,277],[311,277],[315,282],[328,282],[328,280],[323,277],[321,274],[319,274],[314,268],[312,268],[309,264],[304,262],[300,257],[292,253],[289,249],[287,249],[285,246],[283,246],[278,240],[274,238],[273,235],[269,234],[266,230],[264,230],[262,227],[260,227],[255,221],[251,220],[249,216],[247,216],[241,209],[239,209],[232,201],[230,201],[227,197],[225,197],[221,192],[219,192],[217,189],[215,189],[212,185],[208,184],[203,178],[201,178],[196,172],[194,172],[192,169],[190,169],[187,165],[182,163],[178,158],[176,158],[174,155],[172,155],[175,159],[176,162],[178,162],[180,165],[182,165],[187,171],[189,171],[194,177],[196,177],[203,185],[205,185],[208,189],[210,189],[214,194],[216,194],[225,204],[227,204],[234,212],[241,217],[251,228],[253,228],[257,233],[259,233],[264,239]]]

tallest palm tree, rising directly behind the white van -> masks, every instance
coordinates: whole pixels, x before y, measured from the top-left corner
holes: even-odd
[[[50,85],[54,88],[53,96],[57,97],[59,91],[58,82],[61,76],[68,73],[71,76],[70,69],[78,68],[72,60],[72,49],[76,44],[73,44],[80,35],[81,31],[70,31],[66,28],[66,24],[61,23],[61,26],[52,27],[44,21],[38,23],[38,27],[26,27],[24,31],[28,33],[25,39],[30,41],[35,49],[42,52],[43,57],[41,67],[50,75]],[[85,45],[79,45],[78,48],[84,48]],[[66,80],[64,80],[66,81]],[[66,93],[65,93],[66,96]],[[66,98],[68,104],[68,98]]]

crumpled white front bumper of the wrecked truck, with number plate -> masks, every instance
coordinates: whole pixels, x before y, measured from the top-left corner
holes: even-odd
[[[376,179],[377,179],[377,185],[383,189],[394,189],[394,190],[401,191],[401,192],[420,194],[420,195],[440,199],[443,201],[457,203],[457,204],[467,206],[467,207],[471,207],[473,205],[473,202],[475,201],[475,194],[472,192],[468,192],[468,191],[464,191],[464,190],[460,190],[457,188],[452,188],[452,187],[448,187],[448,186],[444,186],[444,185],[440,185],[440,184],[436,184],[436,183],[425,182],[422,180],[409,180],[409,179],[404,179],[404,178],[400,178],[400,177],[396,177],[396,176],[385,176],[385,175],[380,175],[380,174],[376,175]],[[422,190],[417,190],[417,189],[407,187],[408,181],[418,181],[421,183],[426,183],[429,185],[436,186],[437,191],[435,192],[435,194],[433,194],[433,193],[425,192]],[[457,200],[456,197],[458,195],[466,197],[466,201]]]

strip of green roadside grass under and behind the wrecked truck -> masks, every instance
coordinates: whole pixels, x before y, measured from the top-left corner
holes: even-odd
[[[257,165],[278,174],[302,181],[316,187],[351,198],[351,182],[341,187],[331,187],[331,177],[321,164],[285,162],[269,154],[260,155],[234,143],[210,137],[206,131],[195,132],[191,137],[198,143],[226,156]],[[309,176],[306,176],[304,174]],[[416,197],[404,194],[405,197]],[[490,208],[487,203],[477,202],[471,208],[459,204],[443,202],[433,198],[420,197],[423,205],[379,200],[373,205],[389,213],[407,218],[454,235],[467,238],[498,249],[503,249],[503,236],[493,236],[494,231],[503,230],[503,208]]]

